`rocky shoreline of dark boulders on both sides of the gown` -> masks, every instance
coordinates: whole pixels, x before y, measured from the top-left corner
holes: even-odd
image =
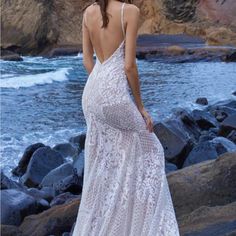
[[[236,93],[233,93],[234,95]],[[236,232],[236,100],[177,108],[155,122],[181,235]],[[54,147],[26,148],[9,179],[1,170],[1,231],[10,236],[70,235],[83,186],[86,132]]]

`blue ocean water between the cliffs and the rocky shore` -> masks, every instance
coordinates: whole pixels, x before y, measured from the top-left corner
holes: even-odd
[[[87,73],[82,55],[23,59],[1,61],[0,165],[8,176],[29,145],[42,142],[53,147],[86,130],[81,97]],[[177,107],[201,108],[195,104],[201,96],[209,103],[235,98],[235,63],[137,64],[144,105],[155,121]]]

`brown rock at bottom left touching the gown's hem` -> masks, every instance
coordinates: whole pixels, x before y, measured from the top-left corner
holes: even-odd
[[[24,235],[62,235],[70,232],[76,221],[79,199],[64,205],[54,206],[40,214],[27,216],[19,229]]]

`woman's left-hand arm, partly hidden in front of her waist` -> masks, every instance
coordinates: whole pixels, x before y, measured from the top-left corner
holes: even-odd
[[[87,9],[86,9],[87,10]],[[91,73],[94,67],[94,61],[93,61],[93,45],[90,39],[89,31],[88,31],[88,25],[87,25],[87,11],[85,10],[83,14],[83,21],[82,21],[82,34],[83,34],[83,65],[88,72],[88,74]]]

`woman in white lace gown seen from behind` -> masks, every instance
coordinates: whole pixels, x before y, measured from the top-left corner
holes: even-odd
[[[140,96],[135,58],[139,17],[131,1],[97,0],[84,11],[87,134],[73,236],[179,235],[164,149]]]

